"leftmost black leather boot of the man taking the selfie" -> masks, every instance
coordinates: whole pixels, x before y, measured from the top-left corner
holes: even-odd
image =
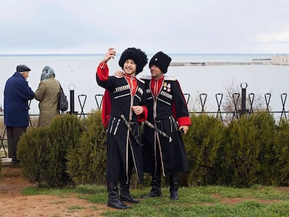
[[[130,207],[119,200],[117,182],[108,182],[108,207],[115,209],[128,209]]]

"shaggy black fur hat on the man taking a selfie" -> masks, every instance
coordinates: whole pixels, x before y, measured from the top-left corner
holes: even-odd
[[[124,69],[124,63],[128,59],[132,59],[137,65],[135,75],[138,75],[138,73],[142,72],[144,66],[147,64],[147,54],[145,54],[139,48],[129,47],[124,52],[122,52],[119,59],[119,66],[122,69]]]

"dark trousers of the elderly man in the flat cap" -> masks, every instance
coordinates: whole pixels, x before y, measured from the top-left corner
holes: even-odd
[[[27,128],[6,126],[7,142],[8,142],[8,157],[12,158],[12,162],[17,161],[17,144],[20,136],[26,132]]]

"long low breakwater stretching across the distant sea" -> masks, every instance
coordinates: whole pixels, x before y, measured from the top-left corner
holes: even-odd
[[[170,66],[241,66],[241,65],[284,65],[272,61],[246,61],[246,62],[172,62]]]

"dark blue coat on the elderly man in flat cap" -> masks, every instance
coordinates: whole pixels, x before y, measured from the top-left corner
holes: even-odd
[[[28,86],[22,74],[14,73],[4,89],[4,124],[13,127],[28,127],[28,100],[34,98],[34,91]]]

